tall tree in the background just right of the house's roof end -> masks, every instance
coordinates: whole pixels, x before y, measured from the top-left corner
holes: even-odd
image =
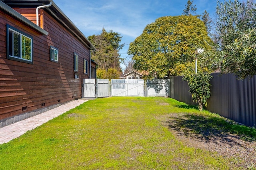
[[[120,58],[119,50],[124,47],[124,44],[120,44],[122,37],[119,33],[113,30],[107,32],[103,28],[100,35],[90,35],[88,39],[96,47],[96,50],[92,51],[91,55],[99,68],[121,70],[120,61],[122,59]]]

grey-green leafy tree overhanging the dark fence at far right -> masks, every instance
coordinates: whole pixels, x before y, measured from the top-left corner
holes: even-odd
[[[217,2],[216,40],[221,70],[239,78],[256,74],[256,4],[253,0]]]

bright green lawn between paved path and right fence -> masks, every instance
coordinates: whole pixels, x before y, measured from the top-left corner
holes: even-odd
[[[186,147],[176,139],[161,120],[171,113],[204,117],[217,130],[256,139],[255,129],[233,125],[171,98],[99,98],[0,145],[0,169],[234,168],[230,158]],[[199,133],[197,128],[192,131]]]

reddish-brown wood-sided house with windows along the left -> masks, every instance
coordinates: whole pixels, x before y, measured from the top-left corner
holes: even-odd
[[[0,127],[82,98],[94,49],[53,1],[1,0]]]

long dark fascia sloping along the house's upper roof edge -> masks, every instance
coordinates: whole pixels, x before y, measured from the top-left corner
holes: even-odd
[[[84,40],[83,40],[82,38],[80,38],[70,27],[68,27],[68,25],[66,25],[66,23],[64,23],[64,21],[62,21],[60,18],[58,18],[58,16],[56,16],[56,15],[54,14],[54,12],[52,12],[52,10],[49,9],[50,7],[46,8],[46,9],[48,9],[48,11],[49,11],[54,17],[56,17],[56,18],[57,18],[62,24],[64,24],[74,35],[76,35],[76,37],[77,37],[78,39],[80,39],[80,41],[82,41],[89,49],[95,50],[96,48],[94,47],[94,45],[92,45],[92,43],[84,36],[84,34],[76,27],[76,25],[74,25],[74,23],[62,12],[62,10],[60,10],[60,8],[59,8],[53,1],[52,1],[52,6],[54,6],[54,8],[56,8],[56,10],[58,10],[58,12],[60,12],[60,14],[61,14],[62,16],[64,16],[64,18],[82,35],[82,37],[90,44],[91,47],[89,47],[89,46],[87,45],[87,43],[84,42]]]

